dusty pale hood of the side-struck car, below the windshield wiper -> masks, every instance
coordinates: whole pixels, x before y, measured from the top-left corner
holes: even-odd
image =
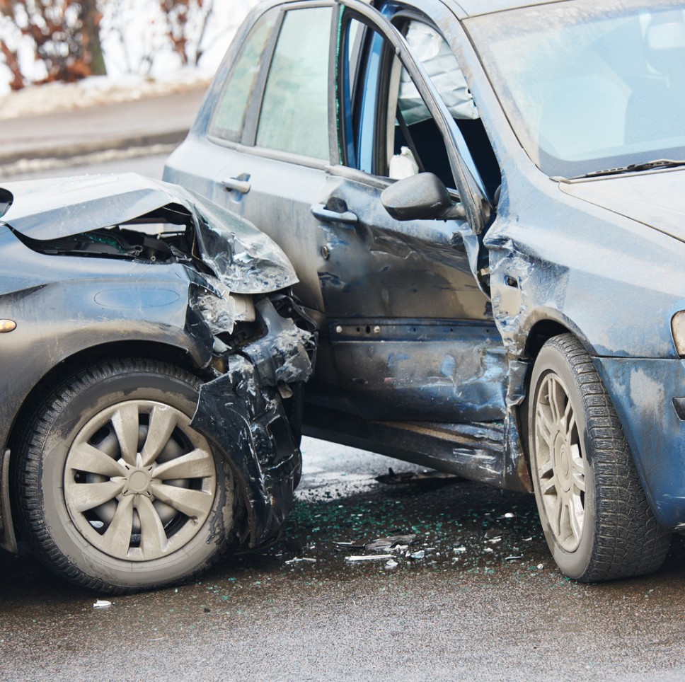
[[[572,197],[685,241],[685,170],[613,175],[580,183],[560,183]]]

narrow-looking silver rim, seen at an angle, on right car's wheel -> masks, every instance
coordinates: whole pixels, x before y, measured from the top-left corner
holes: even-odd
[[[535,453],[552,532],[567,552],[574,552],[585,523],[585,459],[568,391],[552,372],[543,378],[535,405]]]

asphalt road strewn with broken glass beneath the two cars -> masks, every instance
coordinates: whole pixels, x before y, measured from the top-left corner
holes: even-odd
[[[96,166],[159,175],[163,157]],[[73,171],[69,171],[71,173]],[[63,174],[63,173],[58,173]],[[194,584],[108,599],[0,553],[3,679],[685,678],[685,543],[664,568],[583,585],[554,567],[533,497],[305,439],[284,539]],[[413,534],[386,560],[363,544]],[[411,555],[414,555],[413,557]]]

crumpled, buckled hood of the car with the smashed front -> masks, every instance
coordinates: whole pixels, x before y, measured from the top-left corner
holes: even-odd
[[[266,294],[298,282],[287,256],[253,224],[178,185],[136,173],[6,183],[13,202],[0,225],[47,241],[127,223],[175,204],[195,224],[202,260],[237,294]]]

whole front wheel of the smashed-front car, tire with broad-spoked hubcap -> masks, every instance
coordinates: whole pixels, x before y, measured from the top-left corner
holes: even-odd
[[[119,359],[41,400],[18,449],[16,502],[54,572],[125,594],[190,579],[221,555],[234,482],[190,427],[199,386],[169,364]]]

